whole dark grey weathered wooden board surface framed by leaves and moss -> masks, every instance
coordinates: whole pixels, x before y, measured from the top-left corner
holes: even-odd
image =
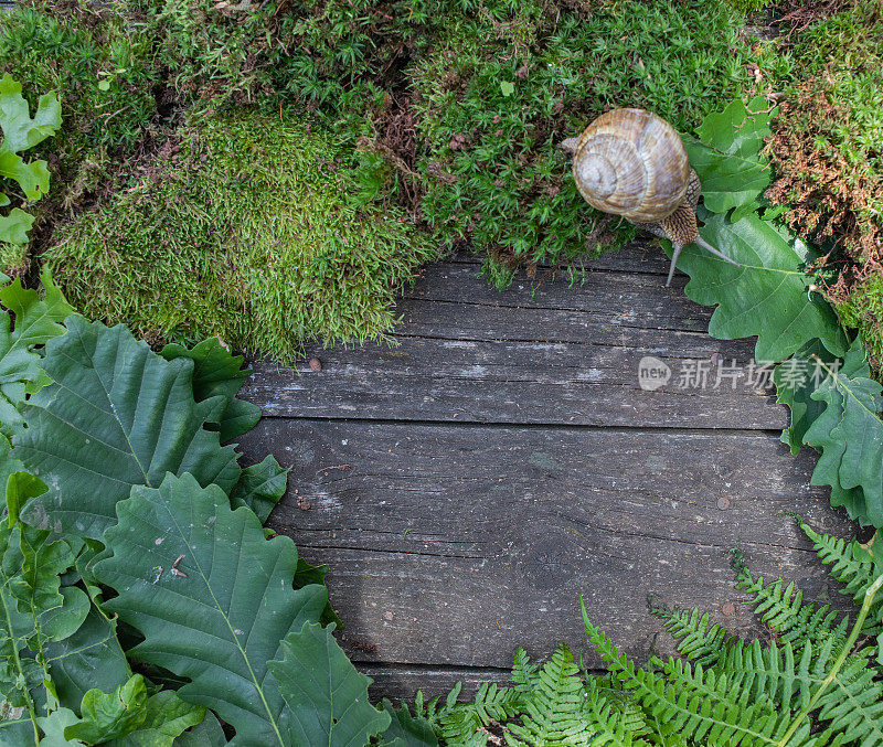
[[[783,515],[851,531],[809,487],[815,455],[779,442],[786,408],[744,377],[678,386],[687,361],[745,365],[754,343],[710,338],[711,310],[683,276],[664,287],[667,264],[632,248],[582,286],[522,275],[498,292],[456,256],[406,294],[397,346],[310,348],[318,373],[254,366],[245,396],[265,417],[244,451],[292,468],[270,525],[330,565],[341,643],[374,696],[506,680],[518,645],[564,641],[597,668],[579,595],[639,659],[671,650],[649,594],[754,634],[733,547],[845,608]],[[657,392],[638,385],[645,355],[672,369]]]

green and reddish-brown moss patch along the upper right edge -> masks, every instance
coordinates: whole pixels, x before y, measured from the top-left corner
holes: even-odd
[[[767,192],[788,223],[831,249],[828,298],[883,363],[883,15],[873,0],[809,25],[790,52],[792,77],[768,149]]]

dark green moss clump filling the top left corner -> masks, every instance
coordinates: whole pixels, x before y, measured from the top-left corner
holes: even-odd
[[[41,207],[70,206],[150,129],[158,73],[150,38],[114,8],[68,12],[44,0],[32,4],[3,17],[0,72],[21,82],[32,105],[38,93],[58,96],[62,129],[34,152],[52,171],[50,200]]]

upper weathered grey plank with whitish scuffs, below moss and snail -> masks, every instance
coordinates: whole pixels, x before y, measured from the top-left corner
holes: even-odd
[[[664,268],[655,258],[648,264]],[[427,268],[398,308],[397,348],[310,346],[307,358],[322,361],[320,373],[306,361],[294,369],[258,363],[244,396],[270,417],[787,425],[787,412],[775,404],[772,389],[765,393],[747,375],[753,342],[710,338],[710,311],[685,299],[680,288],[666,288],[658,275],[604,270],[582,287],[558,278],[535,292],[528,282],[498,292],[477,277],[477,268],[472,262]],[[715,353],[719,362],[712,362]],[[645,355],[672,372],[659,391],[638,385]],[[734,362],[740,376],[719,378],[717,366]],[[691,365],[709,371],[705,388],[693,386],[695,377],[683,380]]]

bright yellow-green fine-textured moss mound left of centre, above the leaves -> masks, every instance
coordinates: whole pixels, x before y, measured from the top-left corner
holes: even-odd
[[[319,127],[236,111],[175,141],[56,232],[43,259],[81,311],[283,361],[392,328],[395,294],[434,252],[400,212],[349,198],[349,157]]]

